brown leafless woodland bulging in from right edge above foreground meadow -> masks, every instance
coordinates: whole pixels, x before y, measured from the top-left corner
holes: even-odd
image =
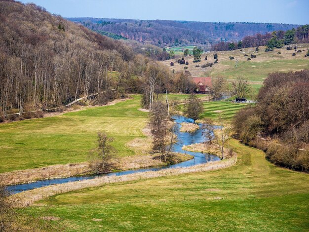
[[[269,74],[258,99],[235,116],[238,138],[278,165],[309,171],[309,70]]]

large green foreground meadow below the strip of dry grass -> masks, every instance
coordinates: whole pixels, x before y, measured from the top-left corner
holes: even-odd
[[[67,231],[308,231],[309,175],[230,146],[238,160],[226,169],[59,194],[23,212]]]

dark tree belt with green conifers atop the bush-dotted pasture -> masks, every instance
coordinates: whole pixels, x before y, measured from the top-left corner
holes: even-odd
[[[309,42],[309,24],[293,28],[287,31],[273,31],[264,35],[258,33],[254,36],[245,36],[238,42],[218,42],[211,45],[213,51],[227,51],[240,49],[245,47],[267,46],[266,51],[272,50],[274,47],[280,48],[292,43],[308,43]]]

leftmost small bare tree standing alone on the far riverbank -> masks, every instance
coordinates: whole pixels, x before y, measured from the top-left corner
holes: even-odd
[[[113,138],[109,138],[103,131],[98,132],[97,147],[90,151],[90,167],[95,173],[105,173],[110,167],[110,160],[116,155],[111,145]]]

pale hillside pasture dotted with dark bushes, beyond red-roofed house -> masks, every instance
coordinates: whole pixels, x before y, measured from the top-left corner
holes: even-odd
[[[282,48],[275,48],[273,51],[265,52],[265,47],[259,47],[259,51],[255,51],[254,48],[243,48],[233,51],[219,51],[218,59],[219,63],[214,64],[213,67],[201,68],[203,64],[214,62],[214,52],[206,52],[202,55],[201,62],[193,63],[193,56],[186,57],[185,60],[189,61],[188,71],[192,76],[199,77],[226,77],[228,79],[235,79],[239,76],[247,77],[251,81],[263,81],[267,75],[271,72],[288,72],[288,71],[299,71],[309,68],[309,57],[304,57],[308,51],[309,44],[294,44],[298,45],[298,49],[302,50],[300,53],[296,53],[296,56],[292,54],[296,51],[286,50],[286,46]],[[294,47],[294,45],[290,45]],[[303,51],[305,50],[305,51]],[[281,54],[278,54],[281,52]],[[247,54],[248,56],[244,56]],[[256,58],[251,58],[250,55],[256,55]],[[204,61],[207,55],[207,61]],[[230,60],[230,56],[234,57]],[[174,66],[170,66],[171,61],[161,61],[162,64],[167,66],[170,70],[180,72],[184,70],[185,65],[180,65],[174,62]],[[235,67],[236,60],[238,60],[237,67]],[[199,67],[195,67],[199,65]]]

